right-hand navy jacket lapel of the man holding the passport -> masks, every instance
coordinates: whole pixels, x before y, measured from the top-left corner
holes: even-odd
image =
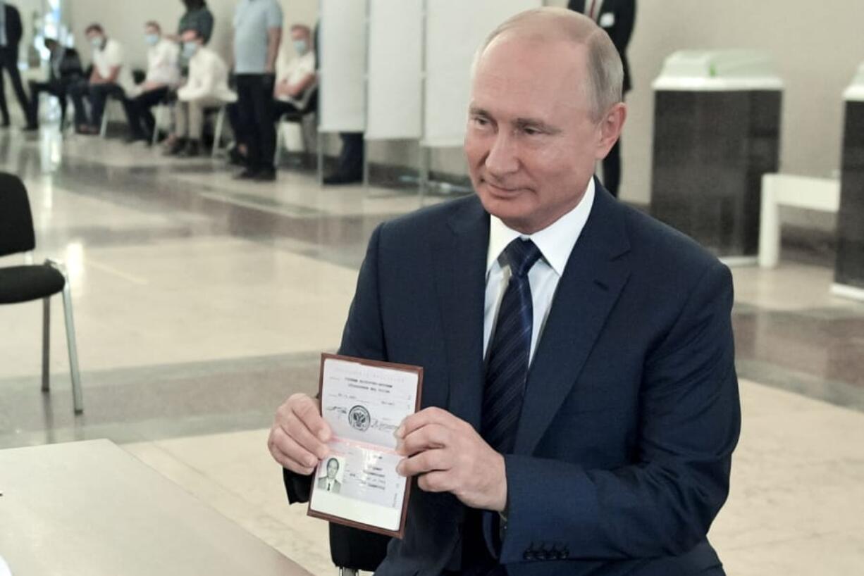
[[[533,452],[573,388],[630,275],[629,247],[620,207],[598,182],[530,367],[515,453]]]

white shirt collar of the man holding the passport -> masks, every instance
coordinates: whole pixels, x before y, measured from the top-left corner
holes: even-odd
[[[486,275],[492,270],[492,265],[498,262],[501,252],[517,237],[530,238],[543,254],[543,259],[561,276],[570,257],[570,252],[576,245],[576,240],[588,222],[588,214],[594,205],[594,178],[588,181],[585,195],[570,212],[558,218],[541,231],[533,234],[523,234],[505,225],[497,216],[489,220],[489,250],[486,254]]]

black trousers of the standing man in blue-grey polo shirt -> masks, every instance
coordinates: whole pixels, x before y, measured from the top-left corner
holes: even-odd
[[[238,74],[237,109],[245,126],[246,168],[275,170],[276,126],[273,124],[273,75]]]

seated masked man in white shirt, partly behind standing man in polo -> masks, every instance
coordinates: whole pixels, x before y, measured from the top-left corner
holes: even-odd
[[[305,24],[291,26],[291,40],[297,55],[285,62],[279,59],[276,64],[276,82],[273,87],[274,120],[283,114],[307,114],[318,107],[318,74],[315,72],[315,53],[312,49],[312,30]],[[240,122],[238,104],[228,107],[237,146],[232,149],[232,162],[245,165],[245,130]]]

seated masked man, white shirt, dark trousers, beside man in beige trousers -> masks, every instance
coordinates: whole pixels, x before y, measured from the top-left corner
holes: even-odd
[[[156,118],[150,108],[168,98],[168,91],[180,84],[180,47],[162,37],[158,22],[144,24],[144,41],[147,50],[147,76],[138,85],[129,102],[130,142],[153,138]]]

